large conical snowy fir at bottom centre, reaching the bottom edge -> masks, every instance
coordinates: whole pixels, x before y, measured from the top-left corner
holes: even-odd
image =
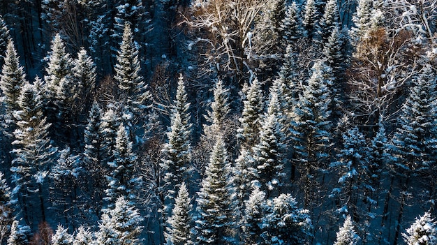
[[[218,135],[198,192],[195,244],[235,244],[235,193],[230,169],[225,143]]]

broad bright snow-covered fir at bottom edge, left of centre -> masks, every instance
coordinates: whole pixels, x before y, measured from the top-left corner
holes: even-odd
[[[142,221],[138,209],[120,196],[114,207],[102,215],[96,232],[96,244],[139,245]]]

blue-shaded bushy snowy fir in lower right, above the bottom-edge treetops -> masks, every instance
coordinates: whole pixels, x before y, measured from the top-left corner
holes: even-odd
[[[353,217],[363,217],[359,210],[360,200],[365,200],[369,184],[369,147],[364,135],[357,127],[343,133],[343,147],[337,154],[338,161],[331,163],[333,172],[339,175],[332,196],[336,198],[337,212]]]

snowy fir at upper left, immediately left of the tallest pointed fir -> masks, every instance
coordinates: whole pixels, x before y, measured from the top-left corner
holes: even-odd
[[[87,111],[87,103],[96,87],[96,65],[83,47],[77,52],[77,59],[73,62],[73,76],[75,80],[73,109],[81,114]]]

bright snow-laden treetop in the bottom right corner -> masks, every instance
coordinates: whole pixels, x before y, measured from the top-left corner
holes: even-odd
[[[435,245],[437,244],[436,221],[431,218],[429,212],[426,212],[420,218],[416,218],[402,236],[407,245]]]

